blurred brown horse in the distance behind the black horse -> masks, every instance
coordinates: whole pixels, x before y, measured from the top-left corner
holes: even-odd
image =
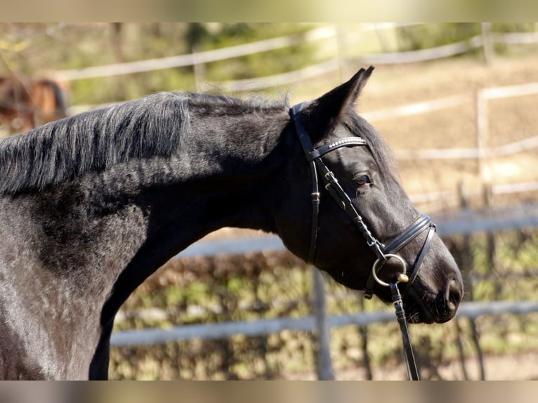
[[[65,97],[55,81],[0,77],[0,125],[6,126],[8,134],[63,117],[67,117]]]

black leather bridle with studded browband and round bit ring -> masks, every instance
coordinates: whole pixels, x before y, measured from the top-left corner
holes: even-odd
[[[334,143],[321,145],[320,147],[315,148],[310,140],[308,131],[306,131],[306,128],[303,126],[301,121],[301,109],[305,104],[306,103],[300,103],[291,107],[289,110],[289,115],[291,117],[291,121],[294,122],[295,132],[299,142],[301,143],[303,152],[305,153],[310,171],[312,226],[310,231],[308,264],[314,264],[317,247],[317,217],[320,211],[320,187],[318,183],[319,176],[324,182],[325,189],[329,192],[329,194],[331,194],[332,198],[336,201],[336,204],[338,204],[343,211],[346,211],[349,218],[353,221],[362,236],[365,238],[367,246],[374,252],[376,256],[376,261],[372,266],[372,272],[370,273],[366,282],[364,291],[365,298],[372,298],[373,289],[376,282],[381,286],[388,286],[391,288],[392,299],[396,310],[396,317],[398,318],[400,330],[402,331],[409,379],[419,380],[419,371],[416,369],[416,364],[414,362],[412,346],[411,342],[409,341],[409,333],[407,331],[405,311],[403,309],[402,295],[400,294],[398,284],[405,284],[402,291],[403,295],[405,296],[409,291],[410,286],[419,275],[421,263],[424,260],[424,256],[426,256],[426,253],[428,252],[431,240],[433,239],[433,234],[435,233],[435,224],[431,222],[431,218],[429,216],[423,214],[414,220],[409,227],[392,239],[391,242],[388,242],[388,244],[382,244],[379,242],[379,240],[376,239],[376,237],[374,237],[372,232],[369,230],[365,221],[362,219],[362,216],[360,213],[358,213],[357,209],[355,209],[355,206],[353,206],[350,197],[348,197],[348,194],[346,194],[346,192],[343,190],[339,184],[339,181],[334,176],[334,173],[327,168],[327,165],[324,164],[324,161],[321,158],[325,154],[338,150],[341,147],[352,147],[355,145],[367,146],[368,144],[366,140],[360,137],[346,137],[336,140]],[[411,242],[426,229],[428,230],[428,234],[426,235],[426,239],[424,240],[421,251],[419,252],[418,256],[416,256],[412,270],[410,270],[410,274],[408,274],[405,260],[398,255],[398,251],[400,251],[400,249],[402,249],[405,245],[409,244],[409,242]],[[393,281],[385,282],[378,277],[378,273],[383,265],[385,265],[385,263],[387,263],[387,261],[390,259],[398,262],[398,264],[402,267],[402,271],[396,279],[393,279]]]

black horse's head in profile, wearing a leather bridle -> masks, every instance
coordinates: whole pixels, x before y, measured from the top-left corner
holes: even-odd
[[[409,322],[446,322],[463,296],[459,268],[400,184],[386,143],[355,112],[372,70],[292,108],[296,162],[287,177],[303,185],[289,189],[283,208],[296,230],[281,225],[280,236],[351,289],[390,301],[388,285],[402,283]]]

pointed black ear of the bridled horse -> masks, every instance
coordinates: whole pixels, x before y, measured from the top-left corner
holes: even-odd
[[[355,102],[364,88],[374,67],[367,70],[360,69],[349,81],[337,86],[328,93],[316,100],[310,101],[303,108],[305,124],[313,140],[315,137],[323,136],[329,128],[332,128],[338,117],[355,107]]]

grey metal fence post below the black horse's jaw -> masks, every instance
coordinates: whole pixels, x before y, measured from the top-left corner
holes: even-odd
[[[315,315],[315,355],[317,379],[320,381],[333,381],[334,370],[331,360],[331,333],[327,319],[327,305],[325,300],[325,283],[320,270],[312,267],[314,280],[314,315]]]

